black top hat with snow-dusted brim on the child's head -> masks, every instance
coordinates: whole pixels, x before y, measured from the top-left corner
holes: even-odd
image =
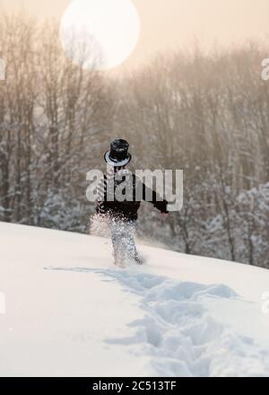
[[[116,138],[110,144],[110,151],[104,155],[105,161],[111,166],[125,166],[131,161],[132,155],[128,154],[129,143],[122,138]]]

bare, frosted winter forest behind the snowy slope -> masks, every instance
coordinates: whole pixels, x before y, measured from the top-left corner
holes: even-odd
[[[53,22],[2,15],[0,220],[85,233],[86,173],[115,137],[131,169],[182,169],[184,206],[138,234],[172,250],[269,268],[269,82],[265,44],[158,54],[124,76],[65,57]]]

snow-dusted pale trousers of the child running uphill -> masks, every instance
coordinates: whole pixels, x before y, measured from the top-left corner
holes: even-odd
[[[134,230],[135,221],[111,220],[110,233],[116,265],[124,265],[126,259],[138,261]]]

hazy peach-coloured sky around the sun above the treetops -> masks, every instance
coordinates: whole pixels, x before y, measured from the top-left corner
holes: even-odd
[[[98,0],[96,0],[98,1]],[[265,36],[269,40],[269,0],[133,0],[142,31],[125,66],[139,66],[155,52],[187,46],[198,39],[240,43]],[[1,8],[24,8],[38,18],[59,19],[70,0],[0,0]]]

